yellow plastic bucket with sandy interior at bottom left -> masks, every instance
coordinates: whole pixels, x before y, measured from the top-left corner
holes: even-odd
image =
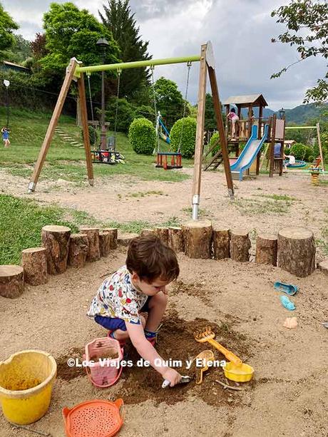
[[[28,350],[0,361],[0,403],[4,417],[27,425],[39,420],[51,399],[56,361],[47,352]]]

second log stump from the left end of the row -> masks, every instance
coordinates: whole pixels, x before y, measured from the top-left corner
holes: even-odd
[[[24,281],[31,285],[48,282],[48,267],[45,247],[31,247],[21,252]]]

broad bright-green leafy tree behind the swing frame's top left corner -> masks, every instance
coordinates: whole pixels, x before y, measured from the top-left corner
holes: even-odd
[[[118,62],[118,46],[105,26],[73,3],[52,3],[43,16],[48,54],[41,58],[41,66],[62,78],[70,58],[76,57],[84,65],[102,63],[102,50],[96,42],[107,39],[106,63]]]

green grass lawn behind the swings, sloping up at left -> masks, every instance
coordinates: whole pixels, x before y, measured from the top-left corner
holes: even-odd
[[[4,119],[4,108],[0,108],[0,117]],[[34,163],[39,155],[41,144],[48,127],[51,113],[11,109],[11,147],[0,148],[0,165],[11,173],[29,178]],[[58,127],[70,137],[82,143],[81,128],[75,124],[75,119],[62,115]],[[108,132],[108,135],[113,133]],[[113,178],[115,175],[131,175],[143,180],[165,180],[168,182],[180,182],[189,176],[179,172],[163,171],[155,168],[153,155],[137,155],[128,138],[123,133],[117,134],[117,150],[125,156],[125,164],[118,165],[93,165],[95,178]],[[167,150],[167,144],[161,141],[163,150]],[[69,144],[55,133],[46,156],[46,162],[41,171],[40,180],[57,180],[58,178],[76,182],[77,184],[87,180],[86,157],[83,148]],[[193,160],[183,160],[184,166],[193,165]]]

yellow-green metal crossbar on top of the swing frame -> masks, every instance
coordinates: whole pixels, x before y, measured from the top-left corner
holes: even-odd
[[[185,63],[185,62],[199,62],[199,61],[200,61],[200,55],[195,55],[195,56],[185,56],[183,58],[149,59],[149,61],[110,63],[101,66],[89,66],[89,67],[77,66],[74,72],[74,76],[80,77],[80,73],[95,73],[96,71],[124,70],[126,68],[142,68],[142,67],[150,67],[150,66],[167,65],[170,63]]]

